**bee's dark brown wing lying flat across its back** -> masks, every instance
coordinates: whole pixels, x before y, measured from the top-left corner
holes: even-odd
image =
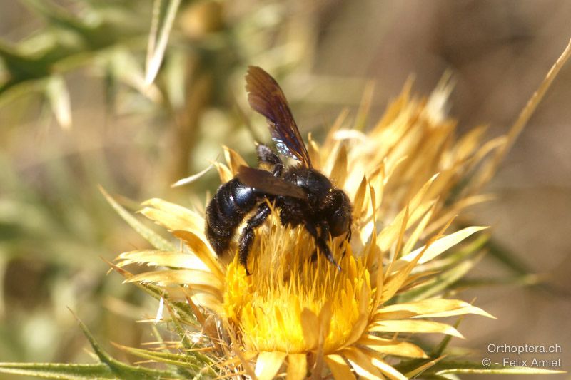
[[[305,192],[281,178],[274,177],[272,173],[261,170],[249,168],[248,166],[241,166],[238,169],[238,180],[244,185],[248,185],[256,190],[261,190],[270,195],[284,195],[287,197],[295,197],[300,199],[307,198]]]

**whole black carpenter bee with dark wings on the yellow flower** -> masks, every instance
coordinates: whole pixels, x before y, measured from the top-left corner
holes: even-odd
[[[282,160],[266,145],[257,144],[258,161],[271,171],[241,166],[238,175],[218,188],[206,207],[206,236],[218,255],[228,249],[238,225],[254,207],[239,239],[239,260],[248,272],[248,253],[254,229],[270,215],[270,203],[280,210],[281,224],[303,225],[318,250],[340,270],[328,247],[329,235],[351,237],[351,204],[325,175],[311,165],[288,101],[278,83],[262,68],[250,66],[246,74],[248,103],[268,119],[279,153],[298,160],[283,168]]]

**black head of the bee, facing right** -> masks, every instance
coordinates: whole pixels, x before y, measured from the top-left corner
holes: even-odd
[[[323,198],[321,212],[329,224],[331,236],[350,235],[351,202],[343,190],[331,189]]]

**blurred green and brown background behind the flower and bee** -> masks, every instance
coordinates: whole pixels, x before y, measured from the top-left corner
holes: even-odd
[[[252,141],[268,140],[246,105],[246,66],[276,76],[303,135],[323,136],[344,107],[355,115],[371,80],[375,120],[411,74],[428,94],[446,70],[460,130],[498,135],[571,36],[565,0],[181,1],[147,87],[156,4],[166,14],[169,1],[0,2],[0,361],[89,361],[67,308],[120,359],[109,342],[154,339],[136,321],[156,302],[102,260],[146,244],[98,185],[131,210],[149,197],[203,205],[214,171],[171,183],[221,144],[252,160]],[[467,216],[495,243],[470,276],[507,282],[462,294],[498,317],[460,326],[468,342],[455,345],[475,357],[490,343],[559,344],[570,368],[570,84],[567,67],[488,186],[497,200]],[[525,272],[546,285],[517,286]]]

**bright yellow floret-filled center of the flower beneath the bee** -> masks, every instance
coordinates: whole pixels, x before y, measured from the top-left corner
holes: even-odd
[[[302,353],[323,344],[325,353],[343,346],[359,319],[370,314],[370,279],[362,260],[340,240],[330,242],[342,271],[303,227],[280,225],[276,216],[257,232],[246,271],[228,265],[224,311],[248,350]]]

